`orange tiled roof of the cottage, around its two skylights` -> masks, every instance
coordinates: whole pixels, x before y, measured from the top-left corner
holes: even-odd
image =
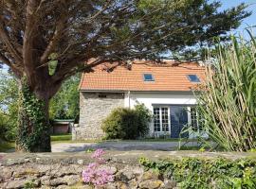
[[[197,83],[192,83],[188,75],[197,75],[205,79],[205,68],[197,63],[181,63],[174,61],[155,64],[153,61],[135,60],[131,69],[118,66],[107,72],[114,64],[104,63],[82,75],[80,90],[82,91],[191,91]],[[143,74],[152,74],[155,81],[144,81]]]

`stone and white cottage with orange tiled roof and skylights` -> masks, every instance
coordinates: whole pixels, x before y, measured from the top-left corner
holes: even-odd
[[[126,66],[105,63],[83,74],[80,85],[80,122],[77,140],[103,136],[101,121],[117,107],[143,103],[154,113],[150,135],[178,138],[191,124],[198,129],[193,89],[204,80],[205,68],[197,63],[135,60]],[[185,133],[182,136],[188,136]],[[190,135],[190,137],[193,137]]]

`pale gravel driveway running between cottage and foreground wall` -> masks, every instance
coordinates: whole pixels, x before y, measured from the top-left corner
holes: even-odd
[[[183,143],[184,144],[184,143]],[[183,145],[181,144],[181,145]],[[196,146],[196,142],[186,146]],[[179,146],[178,142],[102,142],[102,143],[56,143],[51,145],[52,152],[78,152],[89,148],[103,148],[108,150],[163,150],[173,151]]]

